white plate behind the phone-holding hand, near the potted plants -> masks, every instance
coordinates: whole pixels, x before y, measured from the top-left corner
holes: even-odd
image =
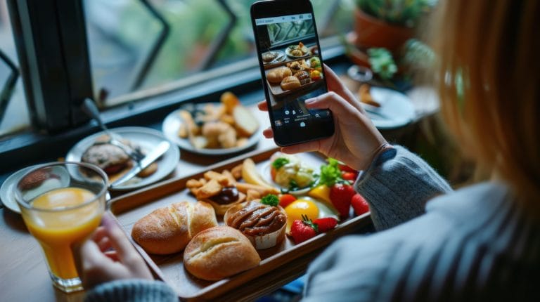
[[[380,107],[361,103],[378,129],[395,129],[413,122],[416,117],[408,96],[388,88],[371,87],[369,93]]]

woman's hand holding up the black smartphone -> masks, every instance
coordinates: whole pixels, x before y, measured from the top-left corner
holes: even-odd
[[[330,109],[335,123],[335,133],[329,138],[282,147],[281,151],[285,153],[318,151],[345,162],[353,169],[366,169],[375,155],[387,145],[386,140],[373,126],[359,101],[341,83],[339,77],[330,70],[330,67],[324,65],[324,68],[330,92],[306,100],[306,107]],[[258,105],[260,110],[268,110],[266,101]],[[263,134],[266,138],[274,137],[272,129],[265,129]]]

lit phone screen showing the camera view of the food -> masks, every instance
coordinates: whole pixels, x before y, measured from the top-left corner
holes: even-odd
[[[308,110],[304,103],[327,92],[313,15],[259,18],[255,24],[274,126],[309,128],[331,119],[329,110]]]

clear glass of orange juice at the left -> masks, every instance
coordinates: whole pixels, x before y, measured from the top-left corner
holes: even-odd
[[[54,162],[25,173],[15,199],[30,233],[44,251],[53,285],[82,289],[72,247],[91,235],[105,211],[108,178],[92,164]]]

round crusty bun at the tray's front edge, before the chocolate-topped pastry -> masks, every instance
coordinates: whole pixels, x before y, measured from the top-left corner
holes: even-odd
[[[217,226],[198,233],[184,251],[184,268],[203,280],[221,280],[259,265],[261,258],[239,230]]]

